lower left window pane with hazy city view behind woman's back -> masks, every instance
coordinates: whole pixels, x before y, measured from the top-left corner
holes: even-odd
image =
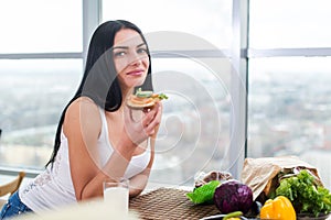
[[[82,66],[81,59],[0,61],[1,166],[45,165]]]

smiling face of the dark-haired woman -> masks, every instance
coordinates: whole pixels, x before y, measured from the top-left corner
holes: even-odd
[[[131,89],[143,84],[149,67],[149,57],[147,45],[138,32],[131,29],[117,32],[113,55],[122,89]]]

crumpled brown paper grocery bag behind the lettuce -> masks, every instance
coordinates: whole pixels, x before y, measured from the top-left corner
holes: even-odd
[[[255,200],[261,193],[268,195],[270,189],[279,185],[277,178],[279,172],[296,167],[309,169],[320,182],[317,168],[297,156],[245,158],[241,179],[243,184],[250,187]]]

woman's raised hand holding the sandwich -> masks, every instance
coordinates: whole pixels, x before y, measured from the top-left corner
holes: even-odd
[[[154,134],[156,129],[161,122],[161,102],[158,102],[151,109],[146,109],[143,111],[132,110],[127,106],[124,108],[125,132],[135,145],[139,145]],[[139,114],[137,116],[137,113]]]

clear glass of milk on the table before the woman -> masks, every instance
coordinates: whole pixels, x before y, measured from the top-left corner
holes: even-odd
[[[104,201],[114,211],[127,216],[129,212],[129,180],[126,178],[105,180]]]

